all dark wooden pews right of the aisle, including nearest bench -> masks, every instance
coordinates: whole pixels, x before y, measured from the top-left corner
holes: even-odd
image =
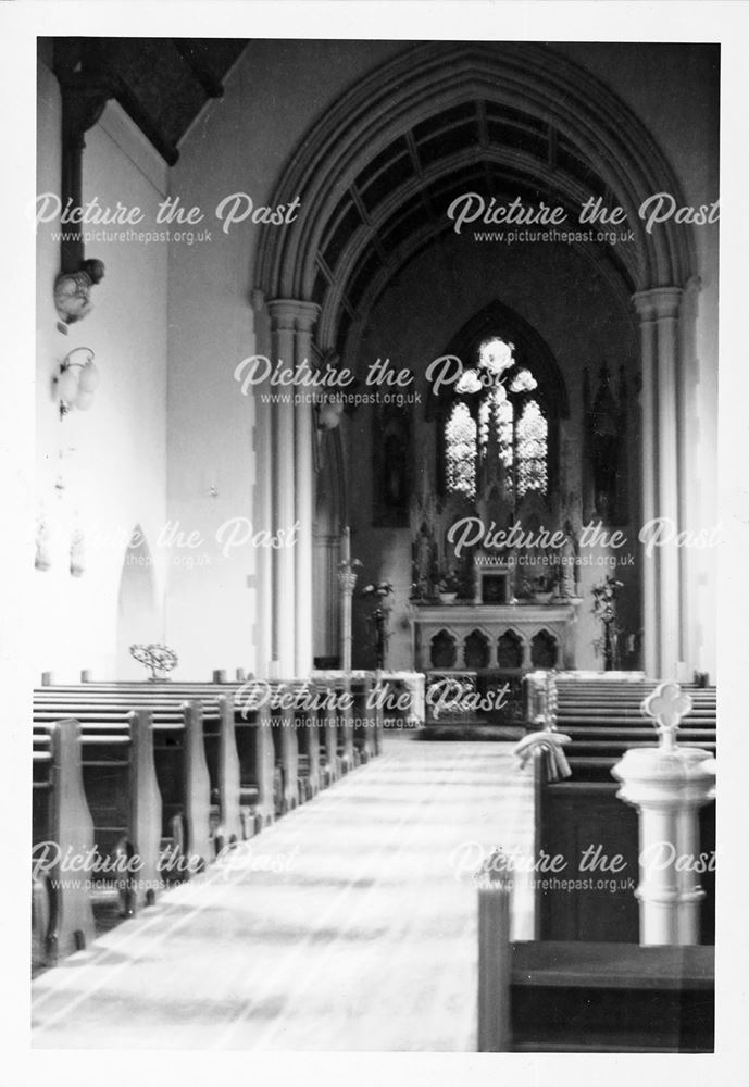
[[[512,942],[510,880],[478,879],[478,1049],[526,1053],[709,1053],[714,1049],[714,873],[704,878],[699,945],[640,946],[638,816],[617,798],[611,770],[633,747],[653,747],[641,702],[657,684],[619,675],[538,671],[524,679],[525,726],[566,734],[534,759],[536,884],[534,939]],[[714,688],[682,685],[692,709],[678,741],[714,753]],[[569,771],[569,776],[567,776]],[[714,850],[715,805],[700,812],[700,849]],[[576,871],[575,857],[621,855]],[[561,857],[560,876],[545,859]],[[626,876],[626,878],[625,878]],[[600,877],[603,877],[602,879]],[[632,886],[631,886],[631,878]],[[599,887],[599,883],[608,886]]]

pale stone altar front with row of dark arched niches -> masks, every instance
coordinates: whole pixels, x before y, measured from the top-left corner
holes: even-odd
[[[413,605],[417,672],[574,669],[577,608],[549,603],[425,603]]]

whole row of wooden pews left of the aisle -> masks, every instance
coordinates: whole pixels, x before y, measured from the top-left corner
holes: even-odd
[[[374,675],[52,685],[33,702],[37,967],[382,750]]]

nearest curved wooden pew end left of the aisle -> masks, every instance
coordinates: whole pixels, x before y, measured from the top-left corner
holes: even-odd
[[[34,737],[33,909],[43,961],[86,947],[95,935],[86,873],[63,871],[65,858],[86,858],[93,849],[93,821],[86,803],[77,721],[51,722]],[[45,867],[42,853],[53,844]],[[35,872],[36,870],[36,872]]]

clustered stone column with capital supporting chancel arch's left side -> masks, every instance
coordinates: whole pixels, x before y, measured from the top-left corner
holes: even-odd
[[[312,328],[319,308],[310,302],[276,299],[271,314],[271,362],[295,368],[310,359]],[[271,479],[273,532],[288,538],[298,522],[292,546],[273,552],[273,658],[282,677],[305,676],[312,667],[312,518],[314,463],[312,392],[285,386],[275,392],[296,393],[302,402],[271,405]],[[310,402],[305,402],[307,398]]]

